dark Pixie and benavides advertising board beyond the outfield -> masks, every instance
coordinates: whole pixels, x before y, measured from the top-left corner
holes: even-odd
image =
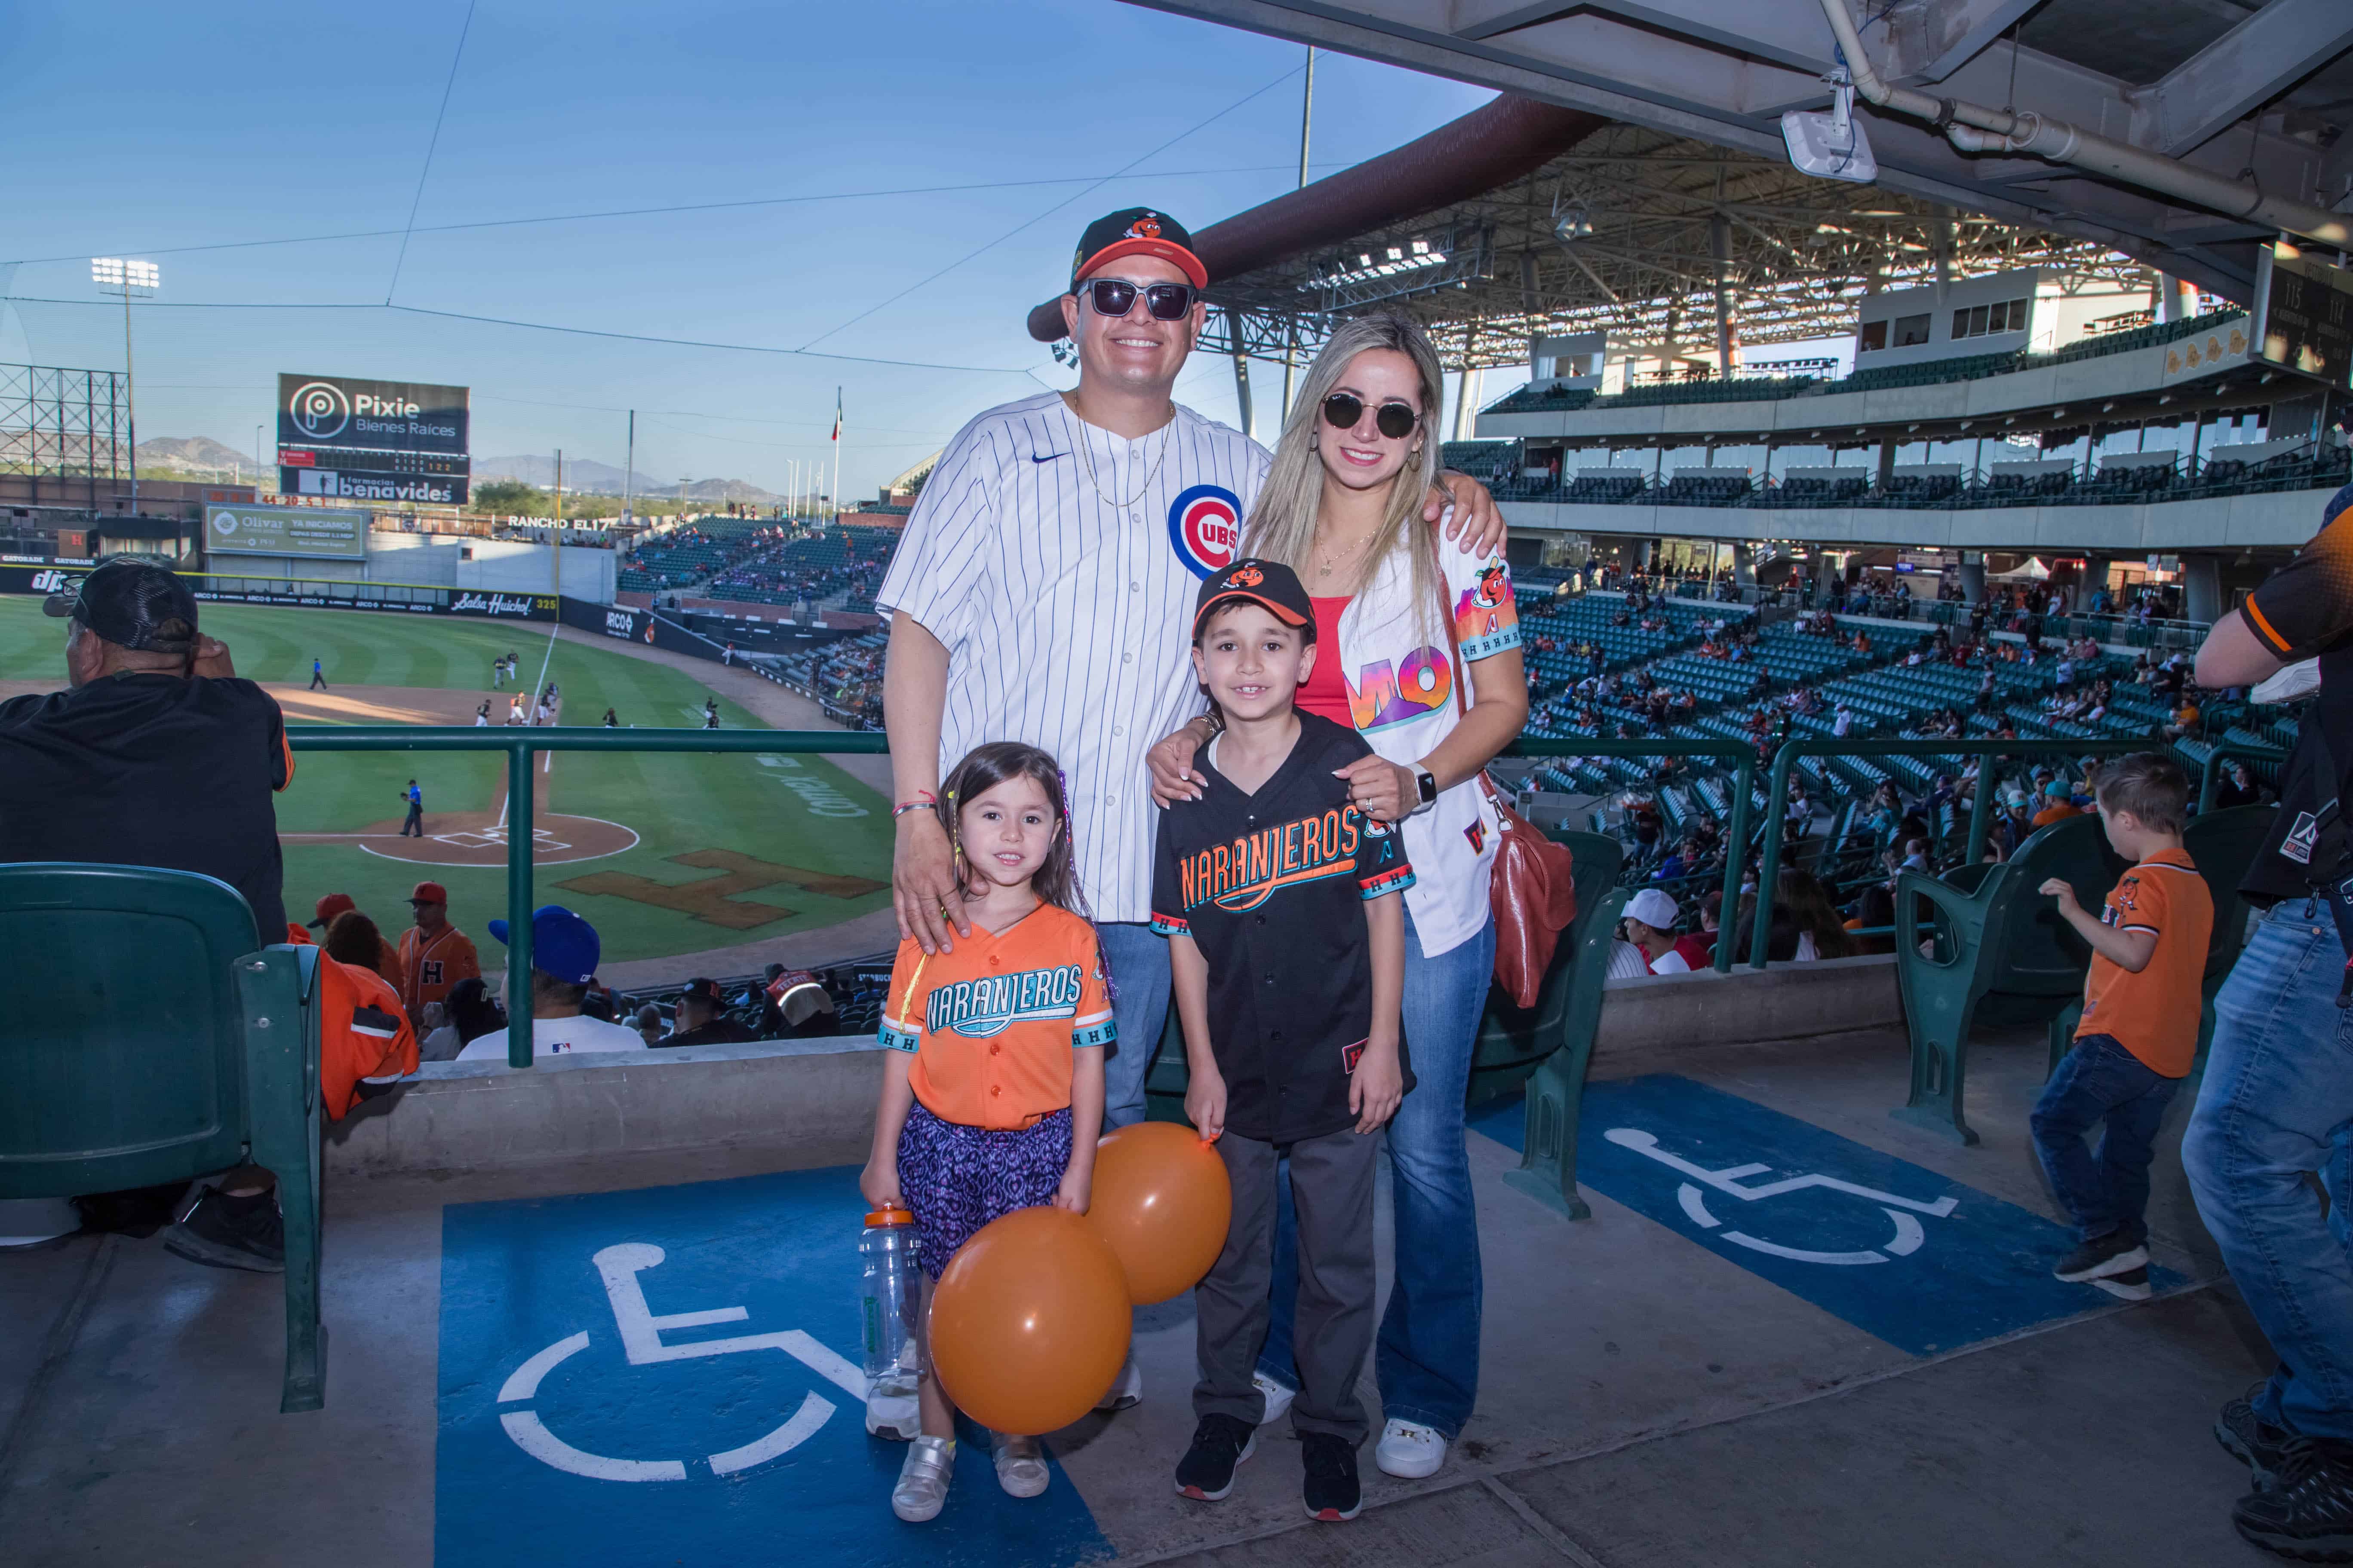
[[[278,489],[341,501],[468,496],[468,388],[278,376]]]

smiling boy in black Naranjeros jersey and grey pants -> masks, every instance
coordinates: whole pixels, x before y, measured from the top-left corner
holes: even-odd
[[[1315,665],[1315,609],[1278,562],[1238,559],[1200,588],[1193,670],[1224,717],[1202,797],[1160,818],[1153,926],[1169,938],[1193,1084],[1186,1117],[1233,1180],[1226,1251],[1195,1291],[1200,1425],[1176,1490],[1219,1500],[1257,1446],[1252,1385],[1266,1342],[1275,1159],[1299,1211],[1299,1396],[1292,1429],[1313,1519],[1355,1519],[1372,1347],[1372,1178],[1412,1086],[1400,1044],[1402,893],[1393,825],[1334,776],[1369,748],[1292,696]],[[1214,1023],[1212,1023],[1214,1020]]]

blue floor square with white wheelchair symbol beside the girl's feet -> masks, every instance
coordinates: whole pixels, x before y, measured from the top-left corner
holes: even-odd
[[[435,1568],[1108,1559],[1059,1462],[1007,1497],[969,1425],[946,1512],[892,1516],[861,1213],[849,1168],[445,1208]]]

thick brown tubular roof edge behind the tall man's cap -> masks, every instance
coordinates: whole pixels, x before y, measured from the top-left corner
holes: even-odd
[[[1402,148],[1195,230],[1193,254],[1209,268],[1209,299],[1217,301],[1219,282],[1287,256],[1508,186],[1605,125],[1602,115],[1504,94]],[[1066,336],[1061,299],[1028,313],[1028,334],[1040,343]]]

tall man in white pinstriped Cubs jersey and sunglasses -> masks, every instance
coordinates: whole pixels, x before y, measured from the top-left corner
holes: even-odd
[[[991,409],[948,442],[875,595],[892,611],[882,712],[899,931],[927,952],[972,936],[939,816],[941,766],[984,741],[1052,752],[1115,985],[1106,1131],[1144,1119],[1169,999],[1167,943],[1146,924],[1158,809],[1144,752],[1202,712],[1193,599],[1233,559],[1268,463],[1254,440],[1169,397],[1207,320],[1207,284],[1193,235],[1165,212],[1089,223],[1061,301],[1078,388]],[[1426,517],[1438,524],[1447,505],[1459,548],[1501,550],[1485,487],[1449,473]]]

